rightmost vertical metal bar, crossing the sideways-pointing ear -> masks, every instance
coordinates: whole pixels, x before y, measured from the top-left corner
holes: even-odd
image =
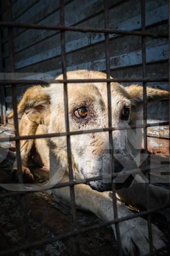
[[[145,32],[145,0],[141,0],[141,24],[142,32]],[[146,77],[146,38],[142,37],[142,76]],[[145,125],[144,133],[144,152],[147,154],[147,83],[143,82],[143,123]],[[147,165],[150,168],[149,156],[147,158]],[[147,172],[146,177],[150,180],[150,171]],[[149,195],[149,183],[145,183],[147,191],[147,209],[150,209],[150,195]],[[149,247],[150,252],[153,252],[153,237],[150,215],[147,216],[148,234],[149,234]]]

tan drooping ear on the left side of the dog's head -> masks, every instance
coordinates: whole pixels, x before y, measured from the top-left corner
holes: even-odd
[[[40,124],[43,114],[48,110],[50,104],[50,96],[47,93],[47,87],[36,85],[26,90],[17,106],[18,114],[26,113],[32,122]],[[13,112],[7,118],[13,117]]]

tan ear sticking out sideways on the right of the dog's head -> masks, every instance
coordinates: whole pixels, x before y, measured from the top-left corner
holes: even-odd
[[[143,104],[143,86],[130,85],[127,88],[132,107],[138,108]],[[153,104],[161,99],[169,98],[169,92],[165,90],[147,87],[147,103]]]

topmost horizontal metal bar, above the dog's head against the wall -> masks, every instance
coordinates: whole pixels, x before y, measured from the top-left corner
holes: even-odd
[[[128,31],[128,30],[118,30],[118,29],[96,29],[91,27],[77,27],[77,26],[47,26],[41,24],[28,24],[28,23],[17,23],[9,21],[1,21],[0,27],[12,27],[12,28],[26,28],[26,29],[47,29],[47,30],[60,30],[60,31],[78,31],[78,32],[94,32],[94,33],[109,33],[109,34],[119,34],[119,35],[140,35],[149,36],[152,38],[168,38],[168,34],[162,33],[150,33],[150,32],[140,32],[140,31]]]

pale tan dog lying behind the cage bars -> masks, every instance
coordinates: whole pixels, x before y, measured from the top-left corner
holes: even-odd
[[[56,78],[62,79],[60,75]],[[98,71],[77,70],[67,72],[68,79],[105,79],[106,74]],[[169,93],[147,87],[147,103],[152,104]],[[136,125],[142,123],[143,87],[137,84],[124,87],[117,82],[111,82],[111,113],[112,127]],[[20,120],[20,136],[33,134],[62,133],[65,128],[64,85],[50,84],[48,87],[36,85],[26,90],[18,105]],[[11,118],[11,113],[8,118]],[[70,131],[84,131],[88,129],[102,129],[108,127],[108,99],[107,83],[78,83],[68,84],[68,116]],[[128,172],[138,168],[135,155],[141,148],[142,129],[140,136],[134,142],[134,130],[114,130],[113,154],[114,171]],[[138,131],[137,131],[138,132]],[[139,138],[140,137],[140,138]],[[111,175],[111,161],[108,132],[86,133],[71,136],[71,160],[75,180],[87,179],[99,175]],[[130,143],[129,143],[130,141]],[[27,167],[28,156],[33,144],[41,157],[44,166],[50,170],[50,182],[56,184],[67,182],[68,156],[67,140],[65,136],[48,139],[31,139],[20,141],[23,177],[33,180],[34,177]],[[135,146],[135,145],[136,146]],[[135,148],[136,147],[136,148]],[[12,169],[13,177],[17,178],[17,163]],[[133,175],[134,176],[134,175]],[[118,179],[116,195],[118,217],[131,215],[132,212],[122,202],[137,204],[147,208],[147,192],[141,175],[135,175],[126,180]],[[113,219],[113,202],[111,195],[111,179],[89,181],[87,184],[74,186],[75,202],[103,221]],[[168,190],[149,184],[150,207],[159,207],[162,202],[168,203]],[[69,186],[54,189],[56,201],[71,201]],[[112,225],[116,236],[115,225]],[[122,250],[125,255],[136,255],[136,248],[140,256],[149,253],[149,239],[147,221],[143,218],[133,218],[119,223]],[[158,249],[165,245],[164,234],[152,224],[153,247]]]

